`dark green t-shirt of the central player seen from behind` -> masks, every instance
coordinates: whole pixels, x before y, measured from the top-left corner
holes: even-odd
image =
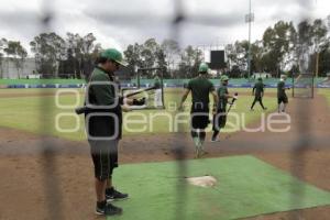
[[[209,105],[209,94],[215,91],[215,86],[209,79],[198,76],[188,82],[187,89],[191,90],[193,103]]]

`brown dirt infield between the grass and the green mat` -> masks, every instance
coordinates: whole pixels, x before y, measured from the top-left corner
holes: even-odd
[[[311,108],[309,119],[299,117],[301,109],[307,107]],[[330,114],[324,98],[295,99],[289,103],[288,112],[293,120],[289,132],[223,134],[220,142],[206,143],[207,157],[251,154],[330,190]],[[307,120],[310,132],[304,133],[299,128],[306,125]],[[41,140],[41,136],[6,128],[0,128],[0,134],[1,220],[96,219],[92,164],[87,142],[51,136]],[[304,151],[298,148],[299,134],[305,138]],[[48,144],[45,154],[44,143]],[[188,134],[124,136],[120,144],[120,162],[173,161],[178,146],[185,146],[187,158],[194,157]],[[327,206],[249,219],[326,220],[329,215],[330,206]]]

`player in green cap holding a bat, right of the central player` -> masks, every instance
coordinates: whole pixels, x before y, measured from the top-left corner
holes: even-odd
[[[221,84],[220,87],[217,90],[217,95],[219,97],[219,102],[217,105],[217,109],[213,111],[213,134],[211,142],[217,142],[218,141],[218,134],[220,132],[220,129],[224,128],[226,122],[227,122],[227,105],[228,105],[228,99],[233,98],[237,99],[237,96],[231,96],[228,92],[228,81],[229,78],[228,76],[221,76],[220,78]]]

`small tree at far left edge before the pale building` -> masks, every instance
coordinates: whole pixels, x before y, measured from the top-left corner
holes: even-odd
[[[18,76],[21,78],[20,72],[23,69],[25,58],[28,56],[26,50],[18,41],[8,41],[3,51],[6,52],[8,58],[13,62]]]

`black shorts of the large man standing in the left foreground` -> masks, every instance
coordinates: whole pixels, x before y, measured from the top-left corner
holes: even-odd
[[[118,140],[89,140],[95,177],[99,180],[111,178],[113,168],[118,167]]]

